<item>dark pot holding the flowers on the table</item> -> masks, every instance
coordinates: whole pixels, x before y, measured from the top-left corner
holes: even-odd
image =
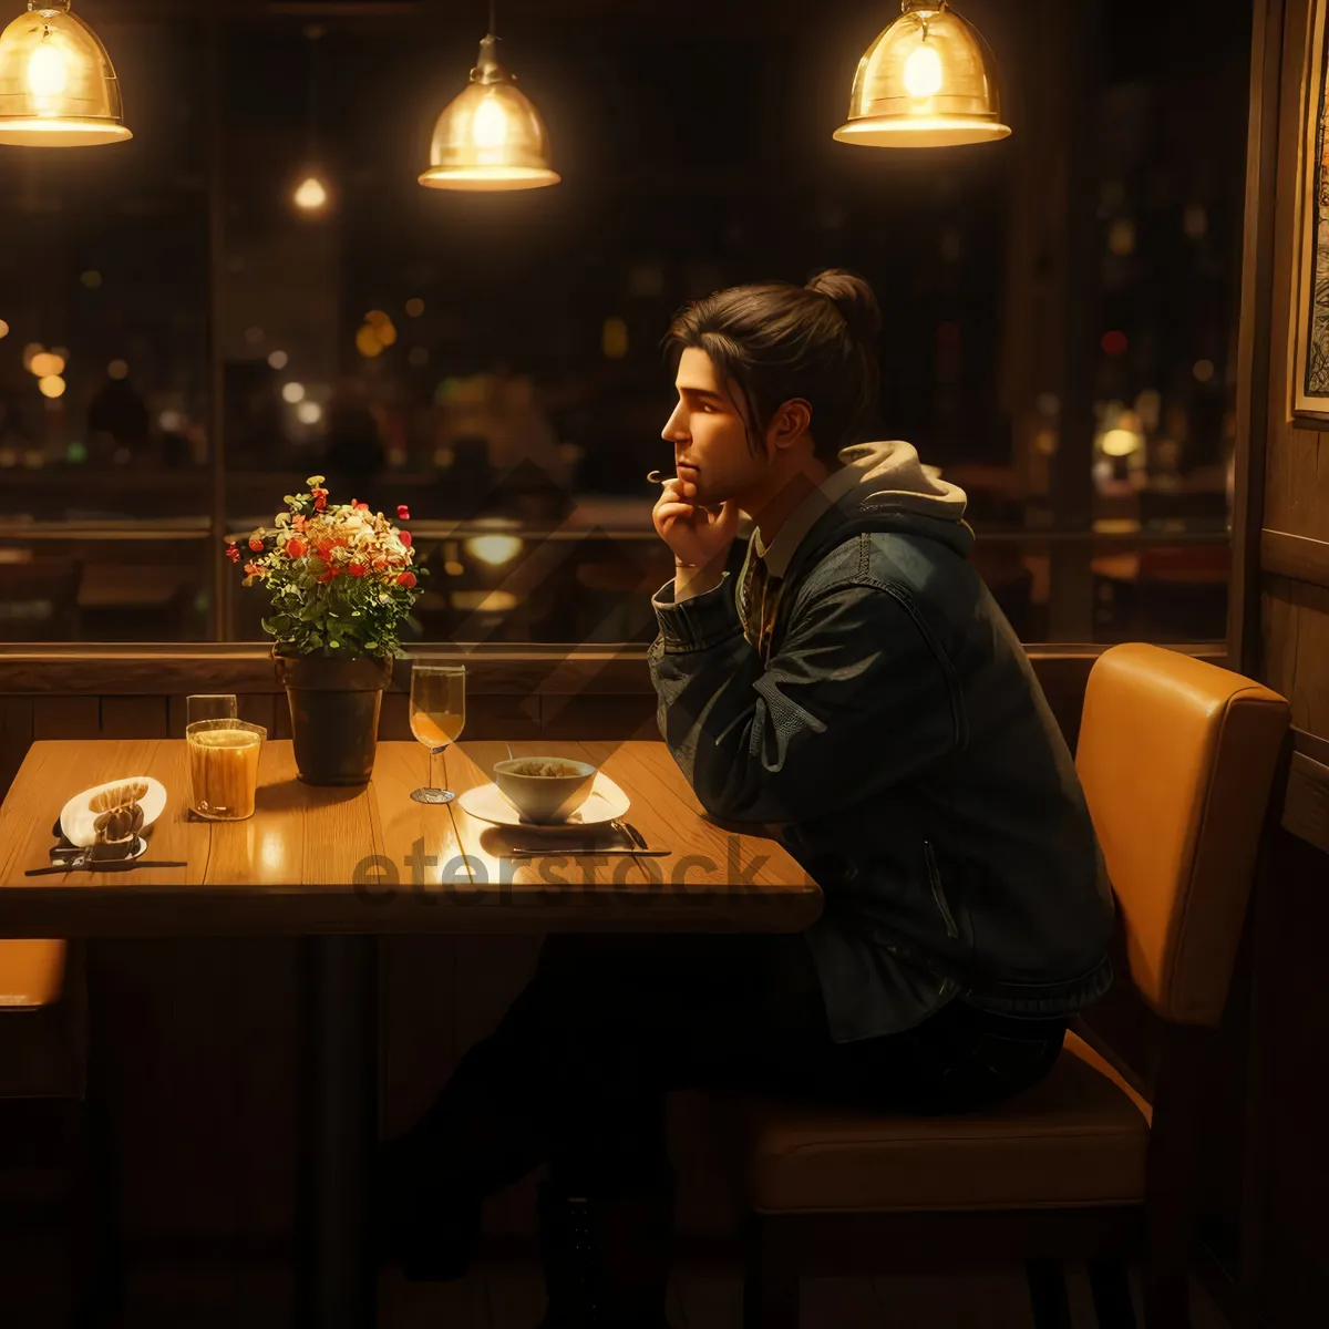
[[[306,784],[367,784],[392,657],[336,659],[272,653],[291,706],[295,766]]]

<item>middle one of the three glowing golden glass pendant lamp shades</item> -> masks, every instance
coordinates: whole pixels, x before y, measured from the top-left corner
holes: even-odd
[[[549,132],[532,100],[494,58],[497,37],[480,44],[470,82],[433,126],[427,189],[472,191],[557,185],[549,165]]]

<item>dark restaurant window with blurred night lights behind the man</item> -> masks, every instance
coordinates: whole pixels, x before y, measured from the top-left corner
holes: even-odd
[[[250,11],[214,52],[126,5],[133,142],[0,154],[0,641],[260,639],[223,537],[312,473],[409,504],[419,639],[649,641],[668,319],[831,264],[885,310],[881,436],[968,490],[1025,639],[1220,638],[1249,15],[1139,44],[1103,5],[1082,78],[1071,25],[975,4],[1015,137],[894,154],[829,138],[881,16],[788,8],[528,7],[563,183],[466,197],[416,177],[482,15]]]

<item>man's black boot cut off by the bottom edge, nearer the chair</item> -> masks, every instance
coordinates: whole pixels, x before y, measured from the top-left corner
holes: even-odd
[[[626,1195],[540,1192],[542,1329],[668,1329],[672,1179]]]

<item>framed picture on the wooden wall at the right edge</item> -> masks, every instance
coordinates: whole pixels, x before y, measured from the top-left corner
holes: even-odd
[[[1297,283],[1292,316],[1292,419],[1329,429],[1329,0],[1314,0],[1297,177]]]

